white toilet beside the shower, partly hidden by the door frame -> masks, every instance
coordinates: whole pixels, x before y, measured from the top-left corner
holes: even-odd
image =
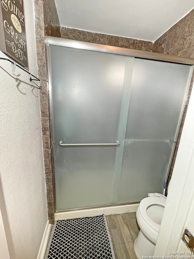
[[[142,259],[142,256],[149,258],[154,254],[166,203],[166,196],[160,193],[150,193],[149,196],[151,197],[142,199],[136,212],[140,231],[134,243],[134,250],[139,259]]]

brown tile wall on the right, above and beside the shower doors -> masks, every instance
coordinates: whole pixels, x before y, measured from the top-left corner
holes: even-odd
[[[183,56],[194,58],[194,10],[192,10],[183,19],[172,26],[167,32],[165,32],[156,42],[153,44],[153,52],[169,54],[173,56]],[[176,154],[179,147],[180,137],[182,133],[183,124],[185,121],[186,111],[189,104],[189,99],[191,95],[193,84],[193,77],[191,80],[191,86],[189,88],[189,94],[184,108],[182,121],[180,125],[180,130],[177,138],[177,143],[175,146],[175,152],[172,158],[172,163],[170,167],[169,180],[172,177],[172,172],[176,160]]]

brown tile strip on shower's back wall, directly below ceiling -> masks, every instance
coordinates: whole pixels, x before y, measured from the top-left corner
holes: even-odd
[[[129,49],[152,51],[152,42],[61,27],[61,37]]]

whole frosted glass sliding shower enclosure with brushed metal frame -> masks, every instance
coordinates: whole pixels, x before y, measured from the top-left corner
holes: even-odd
[[[53,37],[47,53],[56,210],[161,193],[189,59]]]

